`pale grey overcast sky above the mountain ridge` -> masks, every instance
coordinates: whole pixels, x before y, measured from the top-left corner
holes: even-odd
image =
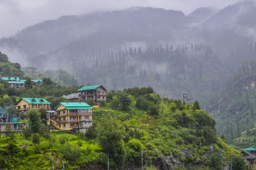
[[[0,0],[0,37],[10,36],[20,29],[61,15],[118,10],[131,6],[152,6],[181,10],[188,14],[196,8],[223,8],[241,0]]]

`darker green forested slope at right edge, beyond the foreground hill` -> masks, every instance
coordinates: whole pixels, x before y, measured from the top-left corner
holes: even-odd
[[[221,99],[211,106],[218,134],[237,149],[255,144],[256,118],[256,63],[243,62],[238,72],[230,77]]]

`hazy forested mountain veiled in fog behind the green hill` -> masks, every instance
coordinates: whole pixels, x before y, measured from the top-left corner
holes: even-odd
[[[79,84],[152,86],[205,102],[241,61],[255,59],[255,8],[243,1],[186,15],[148,7],[66,15],[2,38],[0,50],[22,66],[67,70]]]

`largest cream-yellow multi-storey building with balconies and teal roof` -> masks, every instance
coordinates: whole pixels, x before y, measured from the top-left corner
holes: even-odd
[[[51,122],[62,130],[86,132],[92,126],[92,107],[84,102],[61,102],[56,106],[54,118],[47,116],[48,125]]]

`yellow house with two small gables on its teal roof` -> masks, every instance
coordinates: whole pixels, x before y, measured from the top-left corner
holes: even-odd
[[[51,110],[51,103],[44,98],[20,98],[15,104],[17,112],[22,112],[22,116],[26,117],[29,109],[45,109]]]

